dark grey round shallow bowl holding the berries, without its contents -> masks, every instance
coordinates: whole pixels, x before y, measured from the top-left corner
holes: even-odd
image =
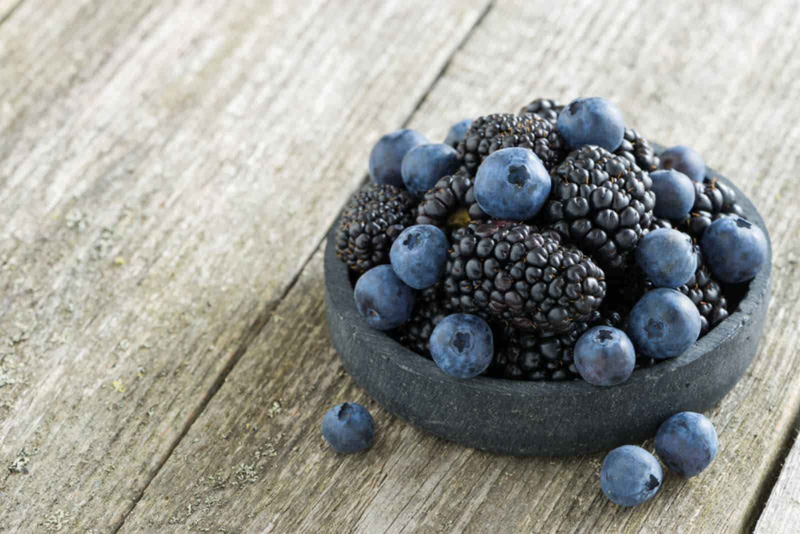
[[[710,176],[719,176],[709,170]],[[745,216],[764,221],[730,181]],[[742,377],[758,349],[770,297],[771,249],[746,286],[726,288],[725,321],[680,357],[638,369],[602,389],[584,381],[456,380],[358,315],[348,269],[336,257],[336,225],[325,251],[328,324],[347,372],[390,412],[467,447],[518,455],[565,456],[636,444],[674,413],[703,412]]]

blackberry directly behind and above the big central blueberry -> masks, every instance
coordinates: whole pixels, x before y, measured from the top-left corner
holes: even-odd
[[[546,119],[534,114],[494,114],[472,123],[458,143],[458,158],[474,176],[486,156],[513,146],[532,149],[548,171],[566,154],[566,143]]]

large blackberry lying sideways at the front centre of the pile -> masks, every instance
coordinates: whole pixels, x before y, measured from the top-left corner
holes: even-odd
[[[452,309],[517,328],[563,332],[606,296],[605,274],[557,233],[508,221],[455,230],[444,289]]]

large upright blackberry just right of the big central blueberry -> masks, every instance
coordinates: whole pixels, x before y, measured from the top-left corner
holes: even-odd
[[[650,176],[626,157],[599,146],[574,150],[551,173],[544,221],[567,241],[620,271],[653,219]]]

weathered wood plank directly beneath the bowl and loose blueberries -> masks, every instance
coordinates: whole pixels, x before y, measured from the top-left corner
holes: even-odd
[[[656,499],[625,510],[599,490],[602,455],[496,456],[402,423],[370,403],[330,348],[321,327],[318,253],[122,532],[750,528],[800,408],[794,373],[800,356],[793,349],[800,313],[794,7],[503,2],[412,121],[438,137],[454,120],[516,110],[534,96],[604,94],[620,102],[632,126],[663,143],[695,145],[746,189],[773,237],[774,299],[754,365],[709,413],[721,449],[702,476],[685,481],[668,473]],[[318,425],[326,408],[341,401],[366,403],[373,412],[378,439],[370,452],[337,456],[324,444]]]

